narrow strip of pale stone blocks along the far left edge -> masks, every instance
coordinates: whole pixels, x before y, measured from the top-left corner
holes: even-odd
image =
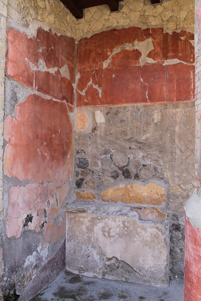
[[[4,82],[5,82],[5,52],[6,52],[6,17],[7,0],[0,1],[0,300],[3,300],[3,249],[2,249],[2,219],[3,219],[3,182],[2,182],[2,159],[3,159],[3,117],[4,117]]]

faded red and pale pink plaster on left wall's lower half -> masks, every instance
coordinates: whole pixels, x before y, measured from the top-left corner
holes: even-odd
[[[44,241],[52,242],[64,236],[64,226],[55,232],[54,218],[61,213],[68,180],[73,178],[73,130],[67,105],[33,94],[16,105],[15,115],[16,119],[10,115],[5,120],[4,172],[36,183],[10,189],[6,233],[19,237],[27,214],[32,214],[28,228],[43,229]]]

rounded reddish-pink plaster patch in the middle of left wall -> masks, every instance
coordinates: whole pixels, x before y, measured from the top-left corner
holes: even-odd
[[[6,118],[4,138],[8,142],[4,157],[6,175],[39,183],[54,180],[65,165],[73,141],[66,104],[36,94],[27,96],[16,105],[16,119],[11,115]]]

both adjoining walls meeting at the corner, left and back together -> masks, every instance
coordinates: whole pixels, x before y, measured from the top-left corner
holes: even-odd
[[[140,28],[126,29],[130,26]],[[194,176],[193,26],[192,0],[153,6],[126,0],[119,12],[110,13],[106,5],[86,9],[82,20],[75,20],[58,0],[8,1],[4,287],[15,283],[20,300],[31,298],[63,268],[62,217],[66,198],[73,199],[72,182],[80,199],[102,201],[112,201],[111,191],[115,195],[132,184],[161,186],[171,219],[172,272],[182,274],[183,205]],[[114,27],[119,30],[110,31]],[[83,51],[78,53],[76,83],[74,38]],[[167,44],[160,45],[160,38]],[[175,56],[167,57],[168,42],[177,43]],[[181,74],[184,82],[178,80]],[[74,88],[79,90],[75,181]]]

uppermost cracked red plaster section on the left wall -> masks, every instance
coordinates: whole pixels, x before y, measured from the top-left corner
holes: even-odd
[[[58,36],[51,30],[38,28],[36,37],[29,39],[25,33],[10,27],[7,31],[7,76],[25,87],[73,105],[74,49],[73,38]],[[64,76],[65,64],[68,64],[68,77]]]

